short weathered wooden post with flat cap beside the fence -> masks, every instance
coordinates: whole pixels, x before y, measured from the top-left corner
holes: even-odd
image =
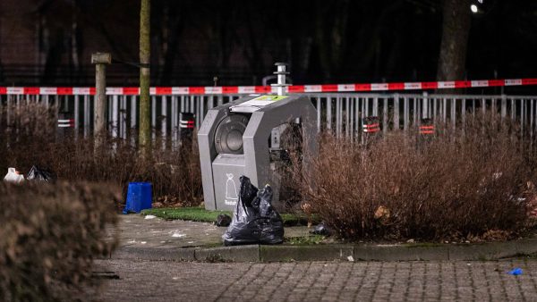
[[[93,119],[93,134],[95,136],[95,147],[98,148],[102,139],[99,137],[105,134],[106,114],[107,114],[107,64],[112,63],[112,55],[97,53],[91,55],[91,63],[95,64],[95,105]]]

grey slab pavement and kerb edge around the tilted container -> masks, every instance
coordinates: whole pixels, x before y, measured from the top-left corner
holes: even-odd
[[[122,215],[112,259],[209,262],[494,260],[537,253],[537,239],[480,244],[319,244],[223,247],[226,227]],[[286,238],[308,236],[287,227]]]

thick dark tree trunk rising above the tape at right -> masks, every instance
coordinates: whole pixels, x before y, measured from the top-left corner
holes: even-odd
[[[444,0],[437,80],[464,80],[470,0]]]

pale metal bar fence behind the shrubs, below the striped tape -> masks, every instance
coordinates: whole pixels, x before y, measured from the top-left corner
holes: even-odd
[[[537,124],[537,96],[473,96],[373,93],[307,93],[318,109],[318,130],[332,130],[338,137],[360,138],[363,119],[378,116],[380,130],[410,130],[419,126],[423,118],[446,122],[456,128],[467,115],[496,111],[502,118],[520,122],[523,135],[534,137]],[[195,114],[199,128],[207,111],[226,104],[242,95],[164,95],[151,96],[151,125],[153,138],[166,138],[171,145],[179,143],[180,113]],[[88,137],[93,128],[91,95],[2,95],[0,103],[16,108],[26,102],[57,106],[59,120],[72,120],[76,137]],[[139,96],[107,96],[107,130],[115,138],[134,137],[140,120]],[[5,111],[0,122],[10,125],[13,112]],[[1,123],[0,123],[1,124]]]

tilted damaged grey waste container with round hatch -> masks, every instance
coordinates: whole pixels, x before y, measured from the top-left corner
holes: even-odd
[[[271,147],[279,146],[282,125],[300,121],[303,172],[308,172],[318,148],[316,116],[310,98],[303,95],[244,96],[210,109],[198,131],[205,208],[233,211],[241,175],[258,188],[270,184],[277,204],[279,177],[271,168]]]

